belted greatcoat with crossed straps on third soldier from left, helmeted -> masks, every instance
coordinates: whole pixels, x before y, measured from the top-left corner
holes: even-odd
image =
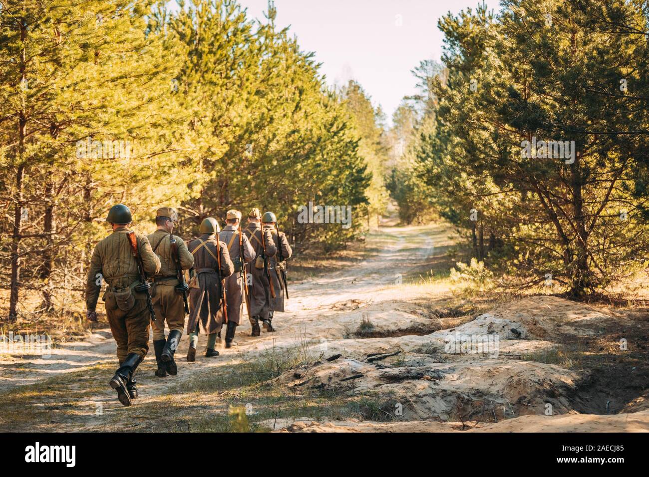
[[[201,240],[206,244],[201,247]],[[200,248],[199,248],[200,247]],[[219,263],[216,260],[217,240],[214,235],[202,234],[199,239],[193,239],[188,243],[188,249],[194,256],[194,272],[197,275],[198,288],[190,288],[190,319],[187,322],[187,332],[191,333],[196,329],[196,324],[208,333],[217,333],[221,330],[221,324],[217,321],[216,314],[221,310],[221,281],[216,271]],[[214,254],[214,257],[209,249]],[[232,275],[234,265],[228,254],[228,247],[225,243],[219,242],[221,250],[221,276],[223,278]]]

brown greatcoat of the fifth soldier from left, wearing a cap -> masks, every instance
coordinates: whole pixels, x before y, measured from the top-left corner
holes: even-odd
[[[246,228],[243,229],[243,232],[249,239],[255,254],[262,255],[262,226],[257,223],[249,222]],[[270,230],[264,230],[263,236],[266,244],[266,253],[268,256],[275,255],[277,247],[273,241]],[[267,319],[271,304],[271,291],[268,278],[266,278],[263,269],[257,269],[254,267],[254,262],[248,263],[246,266],[247,273],[252,277],[251,282],[248,284],[250,314],[259,317],[260,319]]]

